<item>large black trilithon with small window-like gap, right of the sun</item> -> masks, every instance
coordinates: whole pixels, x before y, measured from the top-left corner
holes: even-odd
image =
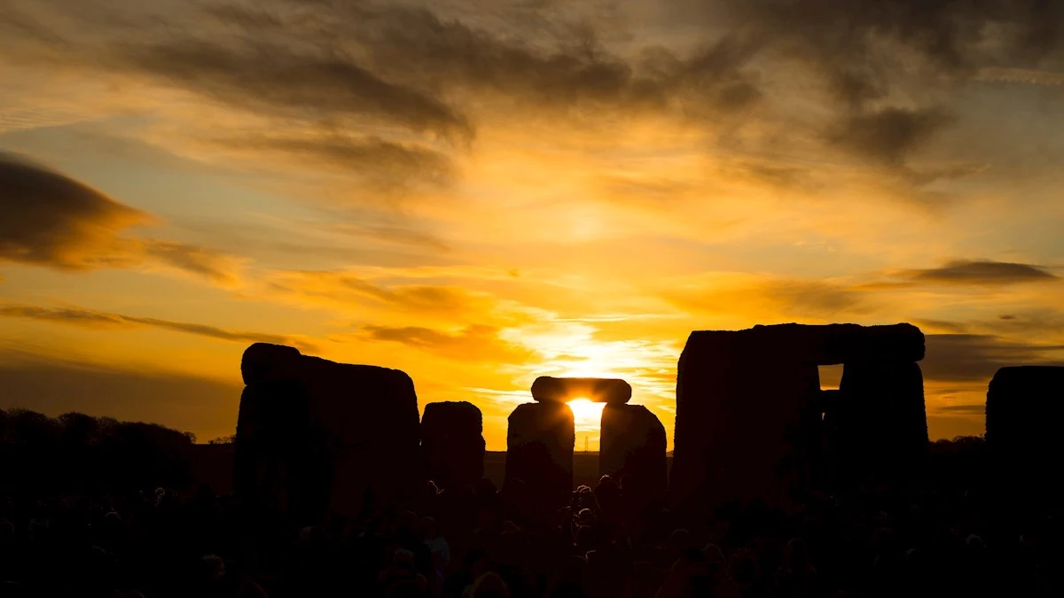
[[[691,509],[752,499],[785,508],[831,469],[826,426],[841,438],[863,431],[851,411],[886,412],[884,418],[900,421],[911,439],[892,439],[905,448],[890,454],[926,450],[915,365],[924,352],[924,334],[905,323],[693,332],[677,368],[672,500]],[[854,364],[849,389],[826,395],[817,366],[836,364]],[[898,379],[884,380],[892,377]]]

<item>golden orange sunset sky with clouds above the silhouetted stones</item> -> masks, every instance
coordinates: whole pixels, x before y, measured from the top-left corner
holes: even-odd
[[[1064,363],[1062,159],[1059,2],[0,0],[0,409],[228,435],[268,342],[671,446],[692,330],[909,321],[978,434]]]

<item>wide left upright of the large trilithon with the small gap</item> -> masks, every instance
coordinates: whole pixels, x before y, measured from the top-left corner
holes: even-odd
[[[771,337],[754,329],[687,340],[669,476],[677,506],[786,505],[808,486],[809,452],[820,439],[819,372],[800,354],[783,359],[770,346],[766,354]]]

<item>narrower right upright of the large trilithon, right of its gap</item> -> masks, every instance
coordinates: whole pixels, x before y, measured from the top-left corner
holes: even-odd
[[[928,452],[924,376],[905,362],[849,362],[835,429],[838,482],[916,482]]]

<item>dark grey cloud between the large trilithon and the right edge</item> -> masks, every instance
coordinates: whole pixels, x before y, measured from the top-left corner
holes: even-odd
[[[945,382],[986,381],[1010,365],[1061,363],[1062,346],[1008,340],[992,334],[928,334],[924,377]],[[1057,356],[1054,356],[1054,354]]]

